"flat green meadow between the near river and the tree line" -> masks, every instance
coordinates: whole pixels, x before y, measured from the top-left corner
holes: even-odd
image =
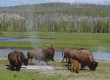
[[[4,33],[8,37],[55,38],[40,41],[0,41],[1,48],[32,48],[53,44],[56,48],[87,48],[90,50],[110,51],[109,33]]]

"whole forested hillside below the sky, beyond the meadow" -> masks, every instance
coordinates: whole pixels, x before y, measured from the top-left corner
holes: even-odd
[[[0,19],[0,32],[110,32],[109,5],[47,3],[2,7],[0,13],[25,18]]]

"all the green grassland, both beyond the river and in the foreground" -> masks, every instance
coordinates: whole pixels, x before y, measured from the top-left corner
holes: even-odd
[[[34,34],[34,35],[33,35]],[[23,48],[29,49],[35,46],[43,46],[53,44],[56,49],[67,47],[87,48],[89,50],[110,51],[110,34],[109,33],[11,33],[6,32],[1,36],[5,37],[33,37],[33,38],[55,38],[54,40],[40,41],[0,41],[0,48]],[[35,46],[33,46],[35,45]],[[7,70],[6,65],[9,64],[7,57],[3,60],[0,57],[0,80],[109,80],[110,79],[110,62],[96,60],[99,65],[96,71],[90,71],[88,67],[80,70],[79,74],[71,72],[61,63],[61,59],[55,62],[49,62],[53,67],[63,67],[54,70],[26,70],[21,69],[20,72]]]

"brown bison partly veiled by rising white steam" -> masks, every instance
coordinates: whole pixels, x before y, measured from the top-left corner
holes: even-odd
[[[31,59],[31,63],[33,58],[39,63],[40,61],[45,61],[47,63],[47,61],[49,60],[54,61],[54,52],[55,50],[53,48],[53,45],[46,45],[42,48],[32,49],[28,51],[27,56],[28,60]]]

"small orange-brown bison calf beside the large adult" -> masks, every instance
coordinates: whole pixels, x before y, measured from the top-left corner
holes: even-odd
[[[80,63],[77,60],[73,60],[72,58],[70,58],[68,69],[70,69],[71,72],[75,71],[76,73],[79,73]]]

